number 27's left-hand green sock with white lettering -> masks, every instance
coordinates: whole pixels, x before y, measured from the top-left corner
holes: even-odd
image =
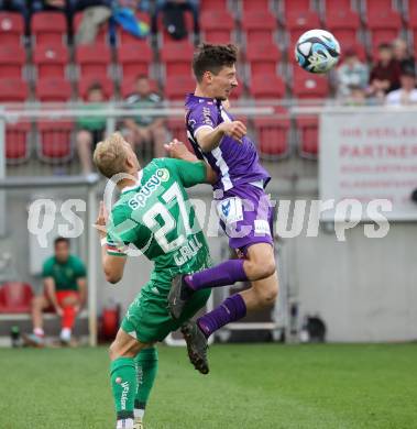
[[[118,420],[133,419],[134,396],[138,389],[133,358],[118,358],[111,362],[110,380]]]

